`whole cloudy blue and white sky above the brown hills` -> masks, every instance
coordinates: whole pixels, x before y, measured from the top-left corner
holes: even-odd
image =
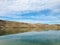
[[[60,24],[60,0],[0,0],[0,19]]]

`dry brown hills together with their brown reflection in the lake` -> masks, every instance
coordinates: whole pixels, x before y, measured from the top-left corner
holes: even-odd
[[[28,31],[60,30],[60,24],[30,24],[24,22],[0,20],[0,35]]]

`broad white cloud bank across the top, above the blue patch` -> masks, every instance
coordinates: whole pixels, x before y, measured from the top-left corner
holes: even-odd
[[[0,0],[0,15],[11,11],[52,9],[58,2],[60,0]]]

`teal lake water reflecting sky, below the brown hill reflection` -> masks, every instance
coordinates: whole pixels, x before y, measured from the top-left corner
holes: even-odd
[[[0,45],[60,45],[60,31],[32,31],[0,36]]]

